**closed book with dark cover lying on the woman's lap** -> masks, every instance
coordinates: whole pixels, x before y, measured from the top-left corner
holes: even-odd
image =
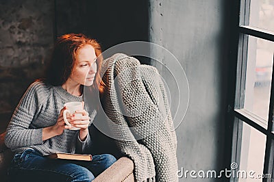
[[[69,159],[69,160],[80,160],[80,161],[92,161],[92,155],[85,154],[72,154],[72,153],[53,153],[46,155],[51,159]]]

